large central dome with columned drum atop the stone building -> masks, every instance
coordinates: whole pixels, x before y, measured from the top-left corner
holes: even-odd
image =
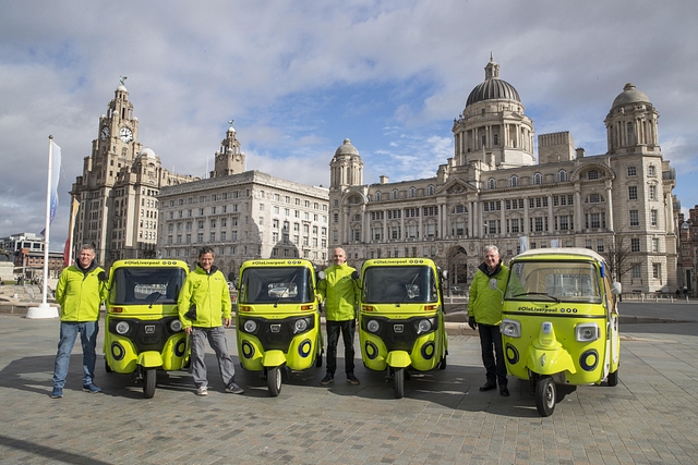
[[[484,81],[468,96],[452,131],[456,166],[476,160],[493,161],[497,168],[534,162],[533,122],[524,114],[516,88],[500,78],[500,65],[492,56],[484,68]]]

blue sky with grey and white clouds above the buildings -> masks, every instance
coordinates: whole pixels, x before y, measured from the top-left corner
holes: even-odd
[[[606,151],[603,120],[634,83],[682,210],[698,205],[696,1],[24,0],[0,15],[0,237],[44,229],[52,135],[62,250],[121,76],[139,142],[170,171],[205,176],[234,120],[248,170],[327,186],[349,138],[370,184],[436,174],[491,53],[535,134],[569,131],[587,156]]]

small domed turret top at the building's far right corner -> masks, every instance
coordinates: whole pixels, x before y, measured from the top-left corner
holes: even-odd
[[[659,146],[657,121],[659,112],[650,99],[627,83],[613,100],[611,111],[603,121],[606,125],[609,154],[648,152]]]

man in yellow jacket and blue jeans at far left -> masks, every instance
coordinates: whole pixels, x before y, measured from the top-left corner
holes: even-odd
[[[95,262],[95,247],[83,245],[77,261],[63,270],[56,285],[56,302],[61,306],[61,334],[53,364],[52,399],[63,396],[77,333],[83,347],[83,391],[101,392],[94,382],[95,347],[99,333],[99,307],[107,299],[107,278],[105,270]]]

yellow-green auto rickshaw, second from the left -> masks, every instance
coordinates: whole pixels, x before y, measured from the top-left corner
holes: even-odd
[[[317,278],[304,259],[248,260],[240,267],[236,331],[243,368],[263,371],[272,396],[281,372],[322,366]]]

